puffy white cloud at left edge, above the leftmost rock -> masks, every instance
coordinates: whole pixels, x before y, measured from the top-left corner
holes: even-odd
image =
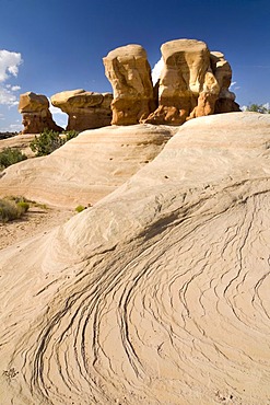
[[[4,83],[11,76],[16,77],[19,66],[23,62],[19,53],[0,49],[0,104],[14,106],[19,104],[14,92],[19,91],[20,85]]]

